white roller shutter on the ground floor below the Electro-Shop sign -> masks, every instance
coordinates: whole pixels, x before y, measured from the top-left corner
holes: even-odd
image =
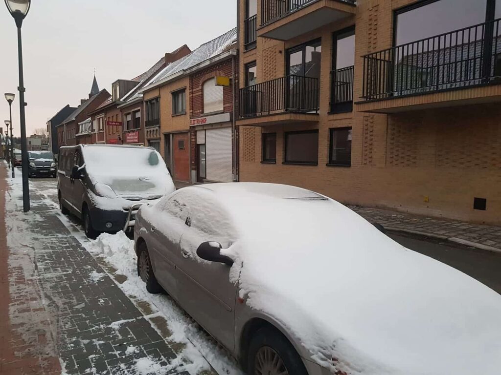
[[[205,130],[207,179],[231,182],[231,127]]]

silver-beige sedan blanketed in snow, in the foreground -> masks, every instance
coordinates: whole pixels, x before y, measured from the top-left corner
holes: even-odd
[[[138,274],[252,375],[497,375],[501,295],[341,203],[268,183],[144,204]]]

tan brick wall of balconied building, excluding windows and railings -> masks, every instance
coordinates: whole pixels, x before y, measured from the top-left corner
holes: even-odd
[[[277,120],[261,127],[240,126],[241,181],[279,182],[319,191],[344,203],[389,207],[401,211],[491,224],[501,223],[501,108],[477,104],[471,95],[494,95],[501,86],[480,87],[396,98],[370,105],[418,106],[413,111],[381,114],[366,112],[362,95],[363,56],[392,46],[393,10],[412,0],[359,1],[356,15],[333,22],[288,41],[258,37],[257,47],[245,51],[240,37],[239,72],[257,61],[258,82],[286,74],[287,48],[322,39],[320,111],[309,123]],[[243,30],[244,1],[239,2],[239,28]],[[260,17],[258,2],[258,19]],[[354,110],[329,114],[331,100],[332,33],[356,25]],[[240,81],[243,87],[244,79]],[[471,90],[476,90],[472,92]],[[483,90],[483,91],[482,91]],[[488,93],[489,91],[490,93]],[[461,98],[461,106],[433,108],[439,95],[449,103]],[[429,105],[428,105],[429,104]],[[289,114],[289,116],[291,116]],[[303,115],[304,116],[304,115]],[[247,118],[237,125],[259,119]],[[327,166],[329,129],[352,127],[351,166]],[[284,132],[318,129],[318,165],[289,165],[284,160]],[[262,163],[262,132],[277,133],[277,163]],[[474,197],[487,199],[486,210],[473,209]]]

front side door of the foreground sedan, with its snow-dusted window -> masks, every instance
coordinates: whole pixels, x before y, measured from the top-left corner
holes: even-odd
[[[196,255],[202,242],[217,241],[227,248],[235,239],[226,213],[209,194],[192,196],[188,202],[189,216],[179,242],[180,259],[176,264],[179,302],[214,338],[233,350],[237,285],[229,281],[230,266]]]

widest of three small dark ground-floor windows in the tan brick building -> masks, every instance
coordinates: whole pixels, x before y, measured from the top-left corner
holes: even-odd
[[[285,163],[318,164],[318,130],[285,133]]]

